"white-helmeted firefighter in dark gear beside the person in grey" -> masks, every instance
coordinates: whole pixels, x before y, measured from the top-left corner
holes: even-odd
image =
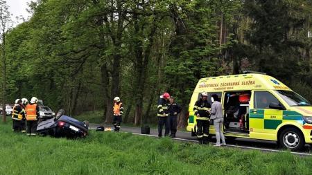
[[[208,144],[209,136],[209,118],[211,104],[207,100],[207,93],[201,93],[201,98],[194,105],[194,114],[197,116],[197,138],[200,144]]]

